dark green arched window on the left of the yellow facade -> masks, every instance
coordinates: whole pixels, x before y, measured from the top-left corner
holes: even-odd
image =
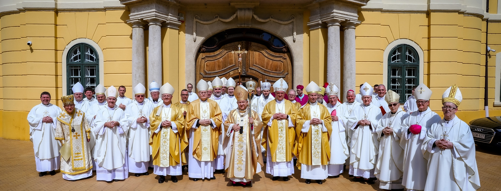
[[[68,95],[73,94],[71,88],[77,82],[93,89],[99,84],[99,56],[89,44],[73,46],[66,55],[66,63]]]

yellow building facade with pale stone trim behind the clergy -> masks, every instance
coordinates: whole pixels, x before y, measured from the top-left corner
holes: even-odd
[[[71,51],[78,45],[92,48],[94,63],[89,66],[94,67],[92,71],[97,84],[105,87],[123,85],[127,88],[126,96],[129,98],[137,82],[145,86],[151,82],[153,72],[161,75],[155,76],[155,79],[160,79],[162,83],[169,82],[176,89],[176,94],[180,93],[187,83],[196,84],[199,79],[211,77],[209,69],[217,72],[217,69],[222,70],[226,65],[234,65],[231,60],[234,55],[229,61],[224,56],[217,56],[222,53],[231,55],[230,51],[224,51],[225,47],[229,47],[229,50],[229,44],[242,42],[247,44],[249,52],[255,50],[250,56],[243,57],[244,62],[250,62],[247,68],[253,69],[255,66],[265,71],[286,71],[275,76],[285,75],[289,78],[289,87],[305,85],[310,81],[323,84],[335,79],[344,91],[356,90],[356,86],[364,82],[385,84],[388,89],[392,89],[391,79],[395,78],[392,72],[397,71],[392,70],[397,66],[392,56],[399,46],[403,49],[408,47],[414,51],[409,54],[412,54],[415,63],[406,67],[412,68],[416,75],[413,79],[406,76],[402,78],[417,83],[414,85],[424,83],[430,87],[433,91],[430,107],[433,110],[440,111],[442,93],[449,86],[457,84],[463,95],[457,115],[463,121],[484,117],[485,99],[488,115],[499,116],[501,55],[496,58],[495,52],[486,52],[486,46],[491,50],[501,50],[499,8],[501,4],[498,5],[497,0],[301,0],[277,1],[274,4],[263,1],[204,3],[194,0],[93,3],[2,1],[0,137],[29,140],[26,118],[30,109],[40,103],[41,92],[50,92],[51,103],[62,106],[60,97],[70,93],[68,87],[73,65],[69,57],[73,56]],[[149,12],[151,10],[164,14],[145,14],[153,13]],[[160,36],[159,45],[152,42],[155,40],[151,38],[152,26],[160,29],[159,33],[154,34]],[[139,36],[142,40],[133,37],[139,34],[133,33],[135,29],[143,32],[143,36]],[[232,35],[250,29],[255,29],[256,34],[264,31],[279,40],[275,44],[269,41],[271,45],[265,46],[263,44],[266,42],[238,36],[229,42]],[[354,32],[353,41],[350,41],[350,30]],[[227,37],[222,37],[222,40],[228,40],[226,44],[215,38],[223,32],[227,34]],[[332,38],[332,35],[336,38]],[[210,44],[211,39],[217,42]],[[28,42],[32,44],[28,45]],[[143,46],[137,46],[138,42]],[[155,50],[151,48],[153,45]],[[218,50],[207,51],[209,45],[214,45]],[[284,45],[285,48],[273,51],[273,47],[277,48],[275,45]],[[158,46],[161,46],[161,50],[157,49]],[[142,57],[133,56],[133,53],[138,52],[143,53]],[[81,56],[82,59],[86,57],[83,51]],[[161,70],[148,73],[148,69],[151,70],[155,64],[153,59],[158,58],[160,63],[156,64],[161,66]],[[270,64],[256,64],[261,61]],[[143,65],[142,73],[137,73],[138,63]],[[84,65],[82,67],[87,66]],[[349,67],[355,70],[351,71]],[[485,71],[487,98],[484,96]],[[206,73],[201,74],[203,72]],[[249,79],[265,80],[253,76],[252,71],[247,72]],[[260,75],[269,75],[265,73]],[[235,71],[224,75],[235,77]],[[174,96],[173,100],[178,101],[179,96]]]

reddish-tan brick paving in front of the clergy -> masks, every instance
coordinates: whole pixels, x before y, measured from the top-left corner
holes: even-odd
[[[224,174],[215,174],[215,180],[192,181],[184,172],[178,177],[177,183],[168,181],[159,184],[158,176],[149,170],[150,175],[135,177],[130,173],[129,178],[107,183],[96,181],[95,172],[90,178],[67,181],[62,178],[61,172],[56,175],[38,176],[35,168],[33,144],[29,141],[6,140],[0,138],[0,190],[381,190],[379,182],[370,185],[354,182],[345,171],[339,178],[328,178],[323,184],[313,181],[305,184],[301,172],[296,168],[291,180],[272,181],[271,176],[260,172],[254,176],[254,186],[231,186]],[[476,151],[478,171],[480,174],[480,190],[501,190],[501,157],[499,153],[491,153],[493,149]],[[264,169],[264,168],[263,168]]]

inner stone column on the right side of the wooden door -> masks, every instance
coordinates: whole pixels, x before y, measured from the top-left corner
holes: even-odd
[[[327,82],[341,86],[341,42],[340,20],[328,20],[327,23]]]

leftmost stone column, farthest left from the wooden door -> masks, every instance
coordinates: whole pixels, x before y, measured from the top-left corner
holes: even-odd
[[[132,23],[132,87],[141,83],[145,87],[145,65],[144,65],[144,23]]]

